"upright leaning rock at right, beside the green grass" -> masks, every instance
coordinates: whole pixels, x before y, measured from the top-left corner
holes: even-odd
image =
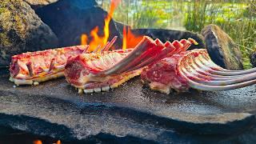
[[[206,26],[202,30],[210,58],[228,70],[242,70],[242,54],[239,47],[221,28]]]

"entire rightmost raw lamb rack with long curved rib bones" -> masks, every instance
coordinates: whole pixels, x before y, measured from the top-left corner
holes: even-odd
[[[146,66],[142,82],[152,90],[169,94],[170,90],[232,90],[256,83],[256,68],[226,70],[211,61],[207,50],[195,49]]]

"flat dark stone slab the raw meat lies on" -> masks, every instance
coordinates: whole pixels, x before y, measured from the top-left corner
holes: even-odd
[[[134,78],[108,93],[78,94],[64,78],[15,87],[7,70],[0,75],[0,126],[66,141],[256,140],[255,86],[166,95]]]

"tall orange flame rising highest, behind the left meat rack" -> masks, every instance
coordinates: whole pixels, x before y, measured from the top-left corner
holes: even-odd
[[[105,25],[104,25],[104,35],[99,36],[98,35],[98,26],[96,26],[93,30],[90,31],[90,36],[92,37],[92,40],[89,43],[89,51],[95,50],[98,46],[105,46],[108,38],[110,37],[110,20],[113,17],[114,10],[118,6],[119,2],[121,0],[111,0],[110,4],[110,11],[107,14],[106,18],[104,19]],[[86,34],[82,34],[81,36],[81,44],[87,45],[88,36]]]

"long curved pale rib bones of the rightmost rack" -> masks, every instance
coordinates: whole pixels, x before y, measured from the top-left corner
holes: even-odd
[[[198,50],[197,50],[198,51]],[[192,50],[178,64],[178,71],[189,85],[198,90],[231,90],[256,83],[255,68],[225,70],[210,60],[206,50],[194,55]]]

